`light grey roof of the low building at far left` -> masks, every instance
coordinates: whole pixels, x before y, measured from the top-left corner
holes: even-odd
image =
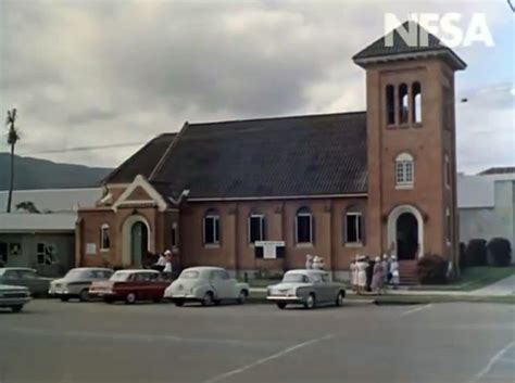
[[[76,214],[0,214],[0,232],[74,232]]]

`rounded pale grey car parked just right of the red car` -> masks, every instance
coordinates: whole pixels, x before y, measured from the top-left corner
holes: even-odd
[[[239,283],[219,267],[191,267],[165,290],[164,297],[177,306],[186,302],[200,302],[210,306],[221,301],[243,304],[249,296],[249,284]]]

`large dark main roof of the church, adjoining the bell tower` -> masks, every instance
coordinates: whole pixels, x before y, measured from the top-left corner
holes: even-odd
[[[366,193],[366,113],[186,125],[149,181],[189,200]]]

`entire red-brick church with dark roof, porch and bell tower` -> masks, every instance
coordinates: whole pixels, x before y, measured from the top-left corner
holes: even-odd
[[[405,282],[426,254],[455,268],[454,73],[466,64],[402,27],[419,43],[395,29],[353,56],[364,112],[186,123],[148,142],[79,210],[77,266],[140,267],[169,248],[175,267],[249,276],[303,268],[307,254],[337,278],[356,254],[397,255]]]

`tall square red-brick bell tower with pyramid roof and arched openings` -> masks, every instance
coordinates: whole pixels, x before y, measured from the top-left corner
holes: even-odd
[[[366,71],[370,251],[456,266],[454,73],[466,64],[413,22],[353,60]]]

